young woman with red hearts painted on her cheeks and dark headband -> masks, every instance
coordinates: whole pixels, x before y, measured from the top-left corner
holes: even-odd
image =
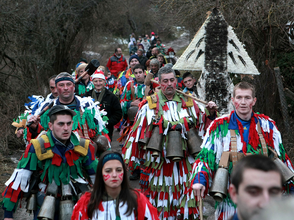
[[[71,220],[158,220],[157,209],[128,183],[121,154],[104,152],[93,188],[76,203]]]

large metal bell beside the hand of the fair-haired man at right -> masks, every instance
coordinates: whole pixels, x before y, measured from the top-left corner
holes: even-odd
[[[217,202],[222,202],[228,194],[229,171],[225,168],[218,168],[214,175],[209,195]]]

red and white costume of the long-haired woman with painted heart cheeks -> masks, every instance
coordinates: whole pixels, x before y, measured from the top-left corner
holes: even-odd
[[[126,216],[127,204],[119,203],[120,218],[116,216],[115,202],[112,199],[101,201],[98,209],[94,211],[91,218],[88,217],[88,203],[91,193],[86,192],[74,206],[74,212],[71,220],[105,220],[105,219],[121,219],[121,220],[158,220],[156,208],[154,208],[148,199],[140,192],[134,190],[137,196],[138,216],[135,218],[134,212],[130,216]]]

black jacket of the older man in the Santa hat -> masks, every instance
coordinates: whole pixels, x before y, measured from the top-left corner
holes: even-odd
[[[94,89],[86,92],[84,97],[91,96]],[[98,98],[98,97],[97,97]],[[113,126],[116,125],[123,116],[123,111],[121,110],[121,104],[119,103],[118,97],[115,94],[109,92],[108,89],[105,89],[105,93],[100,103],[100,108],[105,109],[107,112],[106,116],[108,117],[108,124],[106,125],[109,134],[113,133]]]

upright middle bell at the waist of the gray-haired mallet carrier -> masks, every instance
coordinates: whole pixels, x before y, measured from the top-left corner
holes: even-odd
[[[179,162],[184,158],[181,131],[168,132],[166,158],[173,162]]]

